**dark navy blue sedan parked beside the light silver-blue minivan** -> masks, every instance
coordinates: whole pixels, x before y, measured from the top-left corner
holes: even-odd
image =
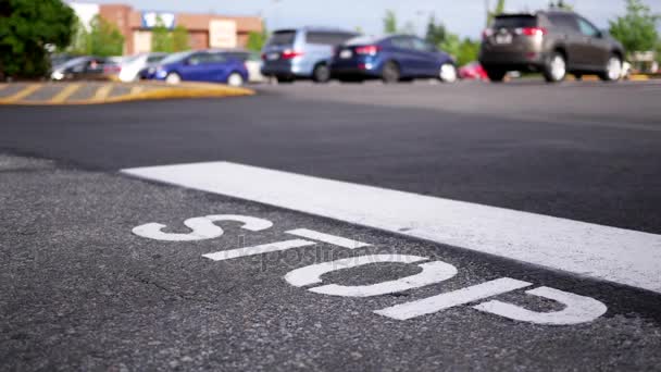
[[[344,82],[381,78],[396,83],[436,77],[453,83],[458,78],[454,60],[448,53],[409,35],[353,38],[337,48],[330,70]]]

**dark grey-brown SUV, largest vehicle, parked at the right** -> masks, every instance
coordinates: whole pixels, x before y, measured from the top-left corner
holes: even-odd
[[[547,82],[597,74],[618,80],[624,48],[578,14],[547,11],[501,14],[485,29],[479,62],[491,82],[502,82],[509,71],[541,72]]]

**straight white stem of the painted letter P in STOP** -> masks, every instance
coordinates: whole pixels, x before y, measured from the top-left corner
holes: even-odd
[[[412,318],[431,314],[460,305],[478,301],[481,299],[507,294],[533,285],[532,283],[516,281],[510,277],[501,277],[495,281],[482,283],[467,288],[448,292],[438,296],[427,297],[421,300],[396,305],[375,313],[397,320],[409,320]]]

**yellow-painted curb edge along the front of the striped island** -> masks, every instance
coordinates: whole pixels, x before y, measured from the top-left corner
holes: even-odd
[[[146,90],[149,87],[151,89]],[[113,88],[113,84],[107,84],[97,89],[91,99],[75,101],[8,101],[0,99],[0,104],[25,104],[25,106],[62,106],[62,104],[101,104],[116,103],[140,100],[163,100],[178,98],[222,98],[237,96],[253,96],[255,92],[248,88],[230,87],[226,85],[207,83],[185,83],[180,85],[165,85],[160,83],[145,83],[133,86],[130,92],[116,97],[108,97]],[[66,88],[65,88],[66,89]],[[62,94],[62,92],[60,92]],[[70,96],[71,97],[71,96]],[[102,98],[105,97],[105,98]]]

